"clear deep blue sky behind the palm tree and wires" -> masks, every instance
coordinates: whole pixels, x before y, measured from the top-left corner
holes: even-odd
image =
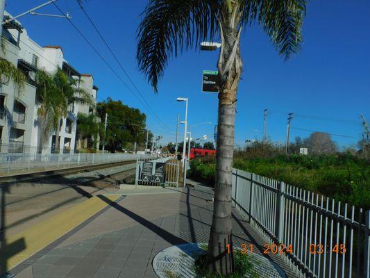
[[[93,74],[95,84],[100,88],[99,100],[106,97],[121,99],[125,104],[144,111],[148,115],[149,128],[155,135],[164,136],[164,141],[174,141],[177,114],[180,113],[181,117],[184,114],[184,105],[176,102],[176,97],[190,99],[190,125],[212,122],[195,127],[193,137],[207,134],[212,138],[217,124],[217,95],[201,92],[201,72],[216,70],[217,51],[191,49],[171,59],[160,82],[159,93],[155,95],[143,74],[138,72],[135,59],[136,29],[147,2],[88,0],[84,6],[126,72],[151,104],[155,115],[171,130],[154,120],[67,20],[32,15],[19,20],[37,43],[62,46],[69,63],[80,72]],[[17,15],[39,3],[44,3],[44,0],[8,0],[6,10]],[[56,3],[63,11],[69,11],[74,24],[131,85],[78,9],[76,0],[58,0]],[[39,12],[59,13],[53,4]],[[333,136],[340,146],[355,145],[362,131],[360,114],[364,113],[370,119],[369,15],[370,1],[366,0],[310,1],[303,25],[302,50],[287,62],[278,56],[258,26],[245,30],[241,46],[244,72],[237,96],[235,123],[237,144],[243,145],[246,139],[262,138],[263,110],[267,108],[267,133],[271,140],[285,140],[286,114],[292,112],[297,116],[292,120],[291,138],[307,137],[310,130],[326,131],[354,137]]]

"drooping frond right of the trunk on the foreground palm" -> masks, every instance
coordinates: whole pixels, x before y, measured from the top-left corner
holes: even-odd
[[[242,24],[258,21],[280,55],[288,59],[301,49],[307,0],[250,0],[242,4]]]

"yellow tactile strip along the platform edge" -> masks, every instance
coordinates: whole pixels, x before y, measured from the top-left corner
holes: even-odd
[[[105,197],[115,202],[121,195],[107,195]],[[58,215],[54,215],[44,222],[37,223],[18,234],[6,238],[5,246],[1,246],[1,266],[6,265],[6,270],[14,268],[91,218],[106,206],[108,206],[107,202],[94,196],[66,211],[62,211]],[[21,248],[22,250],[19,250]],[[4,272],[4,270],[0,270],[0,275],[1,272]]]

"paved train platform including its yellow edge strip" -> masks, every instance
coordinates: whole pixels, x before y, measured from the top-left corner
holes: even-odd
[[[157,277],[151,265],[155,254],[171,245],[208,242],[212,196],[212,189],[194,183],[192,188],[122,186],[91,197],[6,238],[3,277]],[[264,244],[237,211],[233,240]],[[271,259],[295,277],[282,259]]]

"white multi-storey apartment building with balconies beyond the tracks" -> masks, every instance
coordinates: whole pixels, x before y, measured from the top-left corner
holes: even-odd
[[[10,15],[6,13],[5,18]],[[1,76],[0,80],[0,152],[54,152],[56,132],[48,135],[44,146],[40,146],[40,129],[37,110],[40,104],[36,100],[35,72],[37,68],[47,72],[56,72],[60,67],[71,79],[76,79],[92,95],[96,103],[97,87],[91,74],[80,74],[64,58],[60,46],[41,47],[29,38],[26,29],[18,21],[3,26],[6,38],[5,51],[0,56],[10,61],[26,75],[24,90],[15,88],[12,80]],[[67,117],[60,125],[60,153],[72,153],[76,146],[76,128],[78,113],[95,113],[87,105],[69,106]],[[100,119],[99,119],[100,120]],[[99,139],[99,138],[98,138]],[[99,145],[98,145],[99,146]]]

